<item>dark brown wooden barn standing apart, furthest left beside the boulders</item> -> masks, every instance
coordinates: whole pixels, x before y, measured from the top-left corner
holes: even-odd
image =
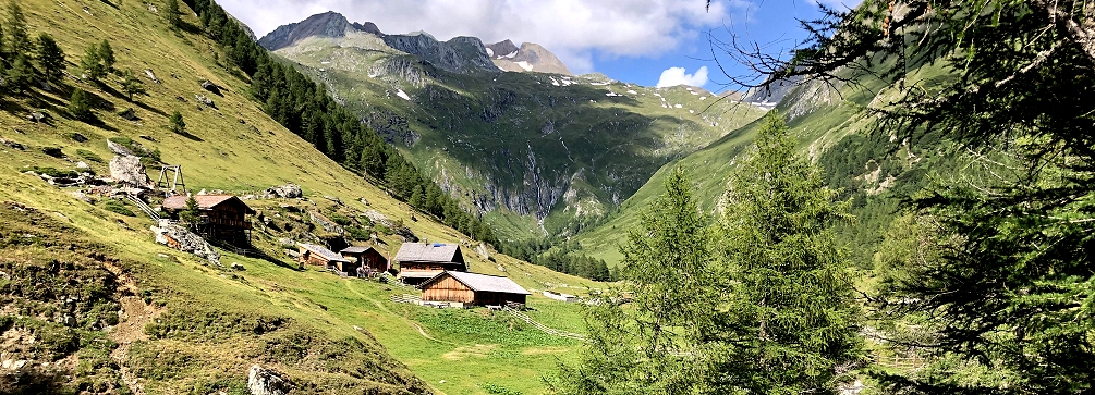
[[[186,209],[187,199],[189,196],[172,196],[160,206],[177,219],[178,213]],[[198,234],[230,243],[250,244],[251,221],[247,216],[254,214],[255,210],[243,200],[234,195],[195,195],[194,200],[201,212],[196,224]]]

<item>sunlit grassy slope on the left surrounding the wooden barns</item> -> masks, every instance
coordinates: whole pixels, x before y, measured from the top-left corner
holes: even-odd
[[[0,146],[0,350],[43,372],[36,373],[41,386],[0,391],[241,393],[247,369],[258,363],[285,373],[299,393],[476,394],[493,386],[535,393],[540,383],[531,377],[570,355],[575,344],[504,316],[399,305],[390,295],[413,291],[298,270],[275,234],[263,230],[255,231],[255,244],[267,257],[223,252],[226,266],[245,269],[215,267],[155,244],[152,220],[117,213],[126,211],[116,209],[124,202],[94,195],[96,201],[85,202],[72,195],[78,188],[23,174],[35,166],[76,171],[79,161],[108,174],[106,140],[126,138],[158,151],[163,163],[181,164],[193,190],[245,195],[292,182],[309,198],[249,201],[266,212],[283,204],[330,209],[323,198],[330,196],[344,202],[342,210],[380,211],[419,237],[466,239],[420,213],[412,219],[410,207],[264,115],[246,93],[247,81],[218,62],[224,55],[195,28],[169,31],[162,15],[135,1],[21,5],[32,34],[50,33],[68,54],[69,74],[51,91],[2,98],[0,137],[12,143]],[[185,7],[183,20],[197,25]],[[148,94],[128,103],[114,75],[102,86],[72,77],[84,49],[104,38],[116,69],[141,75],[151,69],[161,83],[142,75]],[[204,91],[204,80],[222,86],[222,95]],[[65,106],[74,89],[93,95],[97,123],[69,117]],[[197,104],[196,94],[215,107]],[[129,107],[139,119],[117,115]],[[44,111],[48,123],[27,120],[31,111]],[[168,129],[175,111],[188,133]],[[155,171],[149,169],[153,178]],[[393,235],[380,241],[387,251],[399,246]],[[503,255],[486,260],[466,248],[465,256],[474,271],[509,275],[530,290],[597,287]],[[49,282],[66,278],[78,284]],[[32,292],[38,288],[45,290]],[[530,303],[537,320],[580,330],[576,306],[538,297]],[[499,373],[507,370],[516,373]]]

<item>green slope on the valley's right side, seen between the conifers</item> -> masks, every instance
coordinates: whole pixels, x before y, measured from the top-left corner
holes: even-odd
[[[925,66],[908,79],[931,85],[941,74],[937,67]],[[868,108],[892,100],[891,90],[887,82],[869,75],[861,75],[858,83],[804,84],[784,97],[775,111],[787,119],[800,153],[821,166],[828,185],[841,190],[841,199],[852,200],[852,213],[857,220],[841,225],[838,234],[856,265],[871,267],[874,248],[881,242],[900,199],[923,186],[931,172],[953,170],[953,160],[945,154],[948,146],[940,136],[914,133],[899,139],[879,130]],[[753,123],[731,131],[710,147],[661,167],[607,222],[575,237],[581,244],[580,251],[610,265],[619,263],[619,245],[626,242],[626,232],[638,225],[642,211],[665,190],[665,175],[673,166],[690,174],[704,210],[714,212],[736,159],[752,143],[757,126]]]

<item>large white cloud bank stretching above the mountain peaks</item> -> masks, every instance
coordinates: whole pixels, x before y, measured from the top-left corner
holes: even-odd
[[[572,71],[592,71],[592,54],[656,57],[729,18],[740,0],[219,0],[262,36],[279,25],[335,11],[384,33],[426,31],[439,39],[537,43]]]

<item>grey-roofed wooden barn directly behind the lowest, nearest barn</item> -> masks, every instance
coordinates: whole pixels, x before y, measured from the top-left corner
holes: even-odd
[[[400,280],[408,284],[422,283],[446,270],[468,271],[457,244],[403,243],[394,260],[400,264]]]

